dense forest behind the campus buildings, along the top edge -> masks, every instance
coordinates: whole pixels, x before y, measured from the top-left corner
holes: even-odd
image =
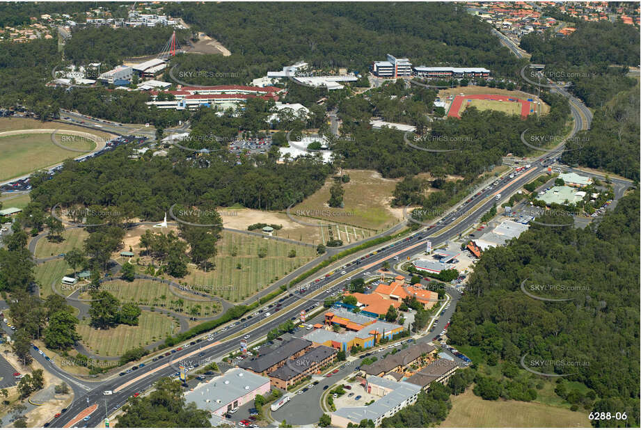
[[[171,15],[205,31],[231,56],[181,59],[185,67],[254,77],[303,60],[365,73],[386,54],[416,65],[485,66],[516,76],[518,61],[489,24],[452,3],[171,3]],[[225,17],[225,19],[219,19]],[[198,65],[200,63],[200,65]]]

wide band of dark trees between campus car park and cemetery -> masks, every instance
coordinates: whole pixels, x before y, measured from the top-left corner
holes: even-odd
[[[130,151],[122,148],[83,163],[69,161],[52,180],[33,186],[31,199],[44,207],[58,202],[64,207],[130,206],[127,213],[148,219],[161,219],[175,203],[285,209],[317,191],[332,171],[311,158],[278,164],[273,154],[236,164],[233,155],[193,160],[181,152],[134,160]]]

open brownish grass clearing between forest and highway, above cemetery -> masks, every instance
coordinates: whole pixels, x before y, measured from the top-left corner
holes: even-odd
[[[327,204],[329,189],[334,184],[333,178],[329,177],[319,191],[292,207],[292,215],[308,223],[319,218],[324,224],[329,222],[354,226],[358,230],[358,240],[374,234],[372,230],[387,230],[401,221],[402,214],[390,207],[398,180],[384,179],[374,170],[343,170],[342,174],[349,175],[350,178],[349,182],[342,184],[345,190],[345,207],[331,208]],[[310,211],[309,216],[298,215],[303,211]]]

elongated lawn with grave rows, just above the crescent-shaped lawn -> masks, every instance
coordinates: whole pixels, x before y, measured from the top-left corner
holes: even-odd
[[[182,314],[191,314],[199,317],[208,317],[220,310],[219,303],[215,301],[189,301],[182,297],[192,296],[189,292],[177,290],[180,296],[175,296],[169,291],[169,285],[154,280],[134,279],[132,282],[113,280],[103,282],[105,290],[113,294],[122,302],[133,302],[138,305],[153,306],[161,310],[173,310]],[[173,287],[172,287],[173,288]],[[194,296],[195,297],[195,296]],[[83,293],[81,298],[90,298],[88,293]],[[182,299],[182,303],[179,301]],[[203,298],[201,297],[201,300]],[[193,307],[200,306],[194,309]],[[193,310],[193,312],[191,312]]]

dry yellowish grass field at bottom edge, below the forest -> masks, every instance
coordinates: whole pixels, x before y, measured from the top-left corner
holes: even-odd
[[[440,427],[590,427],[587,413],[516,400],[483,400],[471,388],[452,396]]]

